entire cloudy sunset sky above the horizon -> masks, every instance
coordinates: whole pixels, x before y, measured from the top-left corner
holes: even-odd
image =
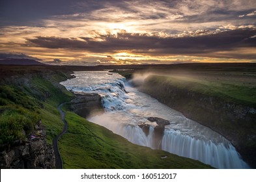
[[[256,0],[1,0],[0,59],[256,62]]]

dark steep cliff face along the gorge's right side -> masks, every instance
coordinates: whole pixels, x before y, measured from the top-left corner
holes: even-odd
[[[225,136],[251,166],[256,166],[255,108],[157,81],[146,80],[139,90]]]

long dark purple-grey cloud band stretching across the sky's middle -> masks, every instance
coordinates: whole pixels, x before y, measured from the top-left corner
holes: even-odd
[[[128,32],[112,34],[98,34],[94,38],[57,38],[38,36],[28,39],[30,46],[47,47],[51,49],[83,49],[93,53],[115,53],[118,51],[131,51],[152,55],[214,55],[218,51],[233,51],[242,47],[256,47],[255,29],[236,29],[207,34],[201,36],[184,36],[179,38],[162,38],[148,34],[132,34]],[[98,41],[98,39],[102,41]],[[225,55],[223,55],[225,57]],[[234,56],[235,57],[235,56]],[[236,55],[237,57],[237,55]],[[256,59],[256,55],[250,59]],[[248,58],[241,55],[240,58]],[[229,55],[232,58],[232,55]]]

